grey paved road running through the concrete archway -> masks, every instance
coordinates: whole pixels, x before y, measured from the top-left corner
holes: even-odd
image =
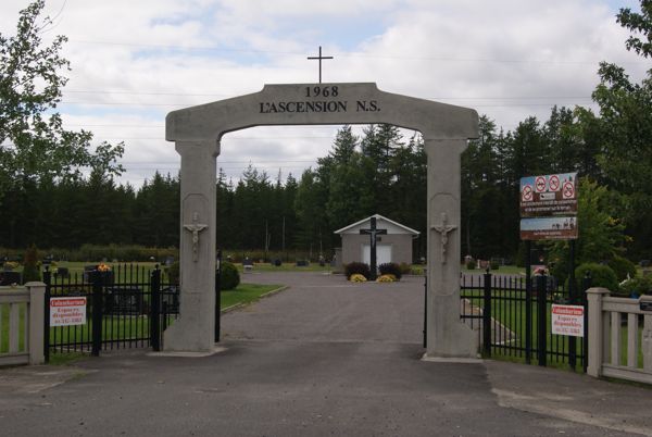
[[[0,435],[652,435],[652,390],[501,362],[419,361],[422,278],[246,279],[290,288],[224,316],[225,352],[0,372]]]

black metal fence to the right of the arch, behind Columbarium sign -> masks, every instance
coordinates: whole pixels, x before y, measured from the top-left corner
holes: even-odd
[[[590,279],[582,282],[582,291]],[[501,355],[539,365],[578,365],[586,371],[588,317],[586,294],[574,292],[549,276],[463,275],[460,316],[478,333],[485,357]],[[585,307],[584,337],[550,332],[553,303]]]

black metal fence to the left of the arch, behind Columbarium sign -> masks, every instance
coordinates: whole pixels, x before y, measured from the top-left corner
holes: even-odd
[[[71,275],[43,272],[46,283],[45,352],[147,348],[159,350],[162,333],[177,317],[179,289],[163,272],[137,265],[96,266]],[[86,320],[72,326],[50,326],[51,298],[85,298]]]

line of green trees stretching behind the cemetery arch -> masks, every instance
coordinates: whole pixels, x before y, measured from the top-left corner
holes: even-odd
[[[91,134],[61,128],[52,111],[65,84],[53,79],[57,68],[66,65],[58,55],[63,40],[37,51],[34,23],[40,9],[42,1],[37,1],[22,12],[20,37],[0,38],[0,68],[9,68],[3,72],[8,82],[0,84],[7,102],[0,108],[0,247],[177,246],[178,176],[156,173],[139,188],[116,184],[123,146],[103,143],[90,152]],[[631,32],[627,49],[644,59],[652,54],[651,16],[648,1],[641,2],[641,13],[624,9],[617,15]],[[16,50],[40,55],[27,57],[21,70],[11,58]],[[652,258],[652,71],[641,83],[632,83],[615,64],[603,62],[598,73],[597,112],[554,107],[548,120],[526,117],[506,132],[480,117],[479,138],[462,159],[463,255],[518,258],[519,178],[578,172],[580,205],[591,211],[578,223],[586,257]],[[28,87],[34,92],[20,96],[11,80],[45,80],[51,87],[42,93]],[[22,98],[38,104],[22,104]],[[7,140],[12,143],[5,146]],[[360,136],[341,127],[328,154],[299,178],[290,174],[284,179],[280,173],[273,178],[250,166],[234,182],[220,172],[217,246],[328,258],[339,246],[334,230],[379,213],[419,230],[414,258],[425,257],[426,166],[417,133],[381,124],[365,126]],[[83,167],[91,168],[90,176],[82,177]],[[595,250],[588,236],[591,241],[606,236],[602,249]]]

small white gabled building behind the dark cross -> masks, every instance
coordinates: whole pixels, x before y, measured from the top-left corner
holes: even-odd
[[[344,265],[356,261],[369,264],[371,236],[361,234],[361,230],[369,229],[372,217],[376,218],[377,229],[387,230],[387,234],[376,237],[377,265],[388,262],[411,264],[412,242],[418,237],[418,230],[414,230],[380,214],[371,215],[335,232],[342,239],[341,249],[336,249],[337,263]]]

